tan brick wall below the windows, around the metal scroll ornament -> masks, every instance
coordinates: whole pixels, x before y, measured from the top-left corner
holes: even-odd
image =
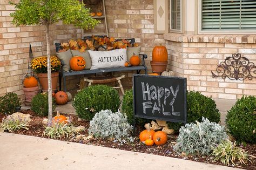
[[[169,69],[187,78],[187,90],[200,91],[207,96],[238,99],[243,94],[256,96],[252,80],[212,78],[217,65],[232,53],[241,53],[256,64],[254,35],[178,35],[166,34],[169,49]],[[254,74],[256,76],[256,74]]]

